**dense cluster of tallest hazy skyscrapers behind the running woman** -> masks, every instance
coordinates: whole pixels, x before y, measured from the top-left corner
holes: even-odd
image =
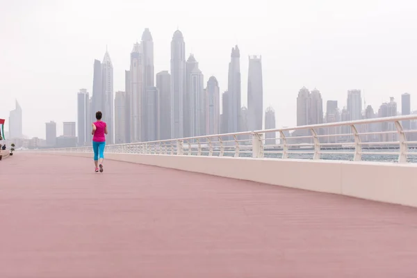
[[[154,42],[145,28],[141,42],[133,44],[130,69],[125,71],[125,90],[116,92],[113,105],[113,65],[106,51],[95,60],[92,97],[85,89],[78,94],[78,144],[89,145],[95,111],[108,123],[109,143],[145,142],[218,133],[262,129],[263,81],[261,57],[249,58],[248,107],[240,104],[240,50],[231,49],[229,84],[222,94],[211,76],[204,76],[193,54],[186,60],[183,34],[174,32],[171,42],[171,71],[156,74]],[[114,109],[114,111],[113,111]],[[113,118],[114,117],[114,118]],[[268,108],[265,127],[275,128],[275,112]]]

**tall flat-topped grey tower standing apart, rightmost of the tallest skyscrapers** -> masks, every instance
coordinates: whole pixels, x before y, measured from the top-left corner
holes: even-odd
[[[261,56],[249,57],[249,73],[247,76],[247,113],[249,130],[261,130],[263,116]]]

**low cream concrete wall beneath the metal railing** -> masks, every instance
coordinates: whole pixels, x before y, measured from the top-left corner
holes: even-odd
[[[415,164],[152,154],[106,154],[106,159],[417,207]]]

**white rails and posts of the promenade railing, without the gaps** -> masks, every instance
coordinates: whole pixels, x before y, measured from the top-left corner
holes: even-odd
[[[225,156],[227,154],[234,154],[235,157],[240,156],[240,154],[250,154],[252,152],[252,157],[254,158],[263,158],[264,154],[268,152],[270,154],[282,154],[281,158],[289,158],[288,154],[294,154],[291,152],[291,149],[305,147],[305,145],[311,146],[313,152],[306,152],[304,154],[313,154],[313,159],[320,159],[321,154],[341,154],[339,151],[334,152],[323,152],[322,147],[329,145],[342,145],[349,144],[354,147],[354,161],[361,161],[362,154],[373,154],[373,152],[363,152],[363,145],[379,146],[379,148],[386,148],[387,145],[398,145],[400,149],[399,153],[392,152],[392,154],[398,154],[398,162],[406,163],[407,155],[417,155],[415,152],[409,152],[407,144],[415,144],[416,141],[407,142],[406,133],[417,133],[417,130],[407,130],[402,129],[402,121],[411,121],[417,120],[417,115],[406,115],[406,116],[395,116],[395,117],[379,117],[367,120],[355,120],[350,122],[331,122],[325,124],[313,124],[308,126],[292,126],[285,127],[281,129],[264,129],[259,131],[243,131],[236,133],[223,133],[223,134],[211,134],[207,136],[195,136],[188,138],[178,138],[178,139],[166,139],[166,140],[154,140],[147,142],[131,142],[131,143],[122,143],[115,145],[107,145],[106,152],[117,152],[117,153],[133,153],[133,154],[177,154],[177,155],[192,155],[202,156],[207,154],[208,156],[213,156],[218,154],[218,156]],[[359,130],[359,125],[361,124],[375,124],[382,122],[393,122],[393,125],[389,126],[388,130],[384,131],[369,131],[369,130]],[[320,129],[326,129],[329,127],[341,127],[349,126],[351,133],[330,133],[322,134]],[[291,136],[287,137],[285,131],[297,131],[297,130],[306,130],[310,133],[300,133],[301,136]],[[318,132],[320,131],[320,132]],[[363,131],[362,133],[360,131]],[[275,133],[275,136],[265,136],[268,133]],[[279,137],[277,138],[277,133]],[[321,133],[321,134],[320,134]],[[250,136],[250,139],[243,139],[242,136]],[[343,137],[343,140],[337,142],[336,139],[338,136]],[[352,141],[347,136],[353,136]],[[366,139],[361,139],[361,136],[366,136]],[[326,139],[327,142],[320,142],[320,139]],[[380,141],[376,141],[376,138],[381,138]],[[218,140],[212,140],[213,138],[218,138]],[[331,142],[329,138],[335,140]],[[369,140],[369,138],[371,138]],[[383,139],[384,138],[384,139]],[[202,140],[204,139],[204,140]],[[293,143],[288,142],[288,139],[298,140],[300,142]],[[279,144],[277,144],[279,140]],[[274,143],[275,142],[275,143]],[[252,145],[251,145],[252,143]],[[265,148],[265,145],[272,147],[272,150]],[[278,147],[278,149],[277,149]],[[369,147],[368,147],[369,148]],[[252,151],[251,151],[252,149]],[[44,149],[47,152],[91,152],[91,147],[65,147],[65,148],[55,148],[55,149]],[[345,152],[343,152],[345,153]],[[390,152],[382,152],[381,154],[391,154]]]

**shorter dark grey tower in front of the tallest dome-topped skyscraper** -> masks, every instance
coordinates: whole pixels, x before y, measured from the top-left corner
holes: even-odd
[[[155,141],[158,139],[159,133],[158,89],[156,87],[146,88],[144,104],[145,111],[147,111],[146,117],[144,117],[145,122],[142,123],[145,126],[144,141]]]

